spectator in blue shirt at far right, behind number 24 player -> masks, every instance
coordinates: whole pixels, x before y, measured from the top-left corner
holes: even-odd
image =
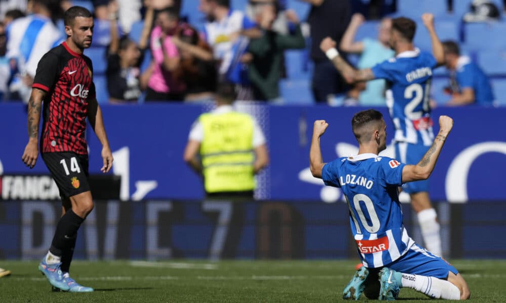
[[[443,42],[445,65],[450,71],[449,106],[478,104],[492,105],[494,94],[490,81],[481,68],[467,56],[460,55],[455,41]]]

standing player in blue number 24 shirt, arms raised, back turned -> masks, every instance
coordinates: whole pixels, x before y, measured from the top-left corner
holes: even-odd
[[[434,133],[429,107],[432,70],[444,64],[444,50],[434,30],[434,16],[421,16],[432,41],[433,55],[414,48],[416,30],[413,20],[400,17],[392,20],[390,46],[395,57],[370,69],[355,70],[335,49],[335,41],[325,38],[320,48],[333,62],[347,82],[385,79],[387,106],[395,126],[395,151],[402,163],[416,164],[431,145]],[[441,256],[441,238],[436,211],[429,198],[429,182],[418,181],[403,186],[411,197],[411,206],[418,215],[424,242],[431,252]]]

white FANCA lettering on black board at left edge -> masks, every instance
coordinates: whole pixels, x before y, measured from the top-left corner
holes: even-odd
[[[51,176],[4,175],[0,180],[4,200],[60,199],[60,191]]]

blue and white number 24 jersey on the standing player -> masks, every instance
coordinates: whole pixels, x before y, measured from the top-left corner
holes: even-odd
[[[406,51],[372,68],[375,78],[387,80],[386,100],[395,126],[395,140],[431,145],[429,94],[436,59],[429,53]]]

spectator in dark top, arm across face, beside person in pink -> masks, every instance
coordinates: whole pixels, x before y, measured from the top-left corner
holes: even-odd
[[[214,99],[217,71],[212,48],[189,24],[182,24],[173,37],[181,61],[174,76],[186,86],[185,101],[207,102]]]

